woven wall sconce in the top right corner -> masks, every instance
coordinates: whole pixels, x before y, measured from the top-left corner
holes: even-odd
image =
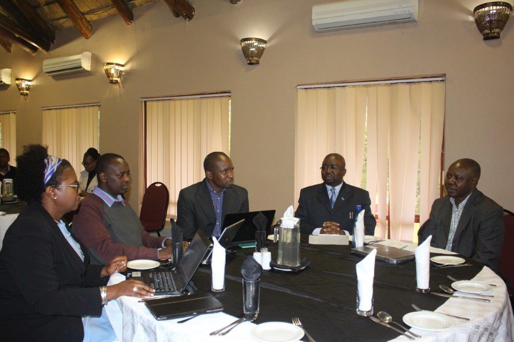
[[[476,6],[473,10],[476,27],[484,36],[484,41],[500,38],[507,20],[509,19],[512,6],[510,4],[495,1]]]

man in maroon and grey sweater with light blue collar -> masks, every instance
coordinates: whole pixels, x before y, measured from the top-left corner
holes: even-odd
[[[137,213],[121,196],[128,190],[130,169],[122,156],[106,153],[96,164],[98,186],[82,200],[72,229],[87,246],[91,263],[105,265],[116,255],[128,260],[165,260],[171,239],[144,230]]]

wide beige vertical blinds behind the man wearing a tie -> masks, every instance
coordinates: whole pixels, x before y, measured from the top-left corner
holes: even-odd
[[[375,235],[389,215],[391,238],[412,241],[439,197],[444,104],[442,81],[298,89],[295,199],[340,153],[344,181],[370,193]]]

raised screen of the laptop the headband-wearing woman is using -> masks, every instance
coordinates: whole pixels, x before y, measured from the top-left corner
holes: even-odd
[[[194,272],[198,268],[198,265],[200,265],[201,259],[204,258],[210,245],[211,241],[209,238],[203,231],[198,229],[188,249],[186,249],[180,261],[178,261],[177,273],[180,275],[178,278],[180,283],[182,281],[185,282],[184,284],[180,284],[181,289],[186,288],[186,285],[193,277]]]

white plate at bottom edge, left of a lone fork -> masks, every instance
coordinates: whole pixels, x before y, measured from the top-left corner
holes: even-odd
[[[250,335],[260,342],[293,342],[303,334],[302,328],[285,322],[262,323],[250,331]]]

